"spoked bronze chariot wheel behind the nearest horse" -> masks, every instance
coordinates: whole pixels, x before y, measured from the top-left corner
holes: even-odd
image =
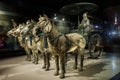
[[[98,58],[102,54],[102,37],[99,34],[93,34],[88,43],[90,58]]]

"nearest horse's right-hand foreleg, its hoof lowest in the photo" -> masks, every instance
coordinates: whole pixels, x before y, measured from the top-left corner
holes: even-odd
[[[60,73],[60,79],[65,78],[65,58],[64,55],[60,55],[60,67],[61,67],[61,73]]]

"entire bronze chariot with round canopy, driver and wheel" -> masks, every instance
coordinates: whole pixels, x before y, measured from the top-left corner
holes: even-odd
[[[60,12],[68,15],[78,15],[78,28],[70,32],[82,34],[87,41],[86,48],[91,58],[98,58],[103,51],[103,40],[101,30],[96,30],[88,18],[88,12],[93,12],[98,8],[93,3],[75,3],[66,5],[60,9]],[[79,14],[83,13],[83,19],[79,21]]]

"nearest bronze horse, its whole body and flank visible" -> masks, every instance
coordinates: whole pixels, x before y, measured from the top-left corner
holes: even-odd
[[[78,33],[61,34],[58,31],[57,26],[50,21],[47,15],[39,17],[37,26],[47,35],[49,43],[51,44],[50,48],[56,61],[55,76],[59,75],[59,70],[61,69],[60,78],[65,77],[65,55],[74,51],[77,51],[81,57],[78,70],[83,71],[84,48],[86,46],[86,40],[82,35]],[[77,68],[77,63],[75,63],[75,67]]]

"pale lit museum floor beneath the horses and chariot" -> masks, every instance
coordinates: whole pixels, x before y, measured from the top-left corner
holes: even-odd
[[[120,54],[104,53],[99,59],[88,59],[85,55],[84,71],[72,69],[73,58],[69,58],[64,80],[120,80]],[[50,71],[42,69],[39,64],[25,61],[26,56],[14,56],[0,60],[0,80],[60,80],[54,76],[55,64],[51,59]],[[118,76],[119,75],[119,76]],[[115,79],[116,78],[116,79]]]

